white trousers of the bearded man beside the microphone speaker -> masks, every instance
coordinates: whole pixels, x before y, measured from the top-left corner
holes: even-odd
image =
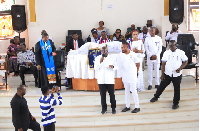
[[[126,107],[130,108],[130,91],[132,92],[133,99],[135,101],[135,108],[140,108],[139,106],[139,98],[136,90],[136,83],[124,83],[125,87],[125,101]]]

